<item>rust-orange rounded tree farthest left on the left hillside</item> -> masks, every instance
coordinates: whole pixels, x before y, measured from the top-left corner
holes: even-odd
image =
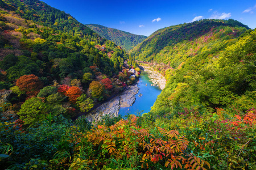
[[[43,82],[34,74],[23,75],[16,81],[16,86],[19,86],[21,91],[26,92],[28,97],[36,96],[39,90],[43,88]]]

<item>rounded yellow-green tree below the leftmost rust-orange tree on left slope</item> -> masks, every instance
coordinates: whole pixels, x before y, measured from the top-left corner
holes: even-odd
[[[24,121],[24,124],[33,125],[35,122],[42,121],[47,117],[51,111],[51,107],[42,102],[42,99],[32,97],[25,101],[20,108],[20,119]]]

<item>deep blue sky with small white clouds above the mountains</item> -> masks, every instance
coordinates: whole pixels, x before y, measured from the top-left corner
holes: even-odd
[[[42,1],[71,14],[83,24],[100,24],[145,36],[160,28],[205,18],[231,18],[252,29],[256,27],[255,0]]]

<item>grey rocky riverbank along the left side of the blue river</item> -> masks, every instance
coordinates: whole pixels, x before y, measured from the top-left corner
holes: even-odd
[[[137,84],[128,86],[125,91],[120,95],[114,97],[112,100],[102,104],[100,107],[94,109],[89,114],[86,114],[86,118],[90,122],[101,120],[102,116],[109,114],[110,117],[117,117],[119,109],[122,107],[130,107],[135,102],[135,95],[138,94],[139,88]]]

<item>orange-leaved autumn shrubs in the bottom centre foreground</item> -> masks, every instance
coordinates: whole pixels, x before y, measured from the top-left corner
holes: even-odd
[[[98,152],[90,155],[91,160],[84,162],[97,164],[97,167],[104,167],[113,159],[129,160],[137,155],[142,168],[156,167],[159,163],[171,169],[210,168],[208,162],[197,156],[185,154],[189,142],[178,131],[167,131],[158,127],[157,134],[152,134],[150,129],[139,127],[137,120],[138,117],[131,115],[128,120],[121,120],[110,127],[98,125],[83,138],[75,137],[74,140],[81,143],[77,145],[76,150],[81,150],[85,140],[91,143]],[[75,165],[72,163],[71,167]]]

